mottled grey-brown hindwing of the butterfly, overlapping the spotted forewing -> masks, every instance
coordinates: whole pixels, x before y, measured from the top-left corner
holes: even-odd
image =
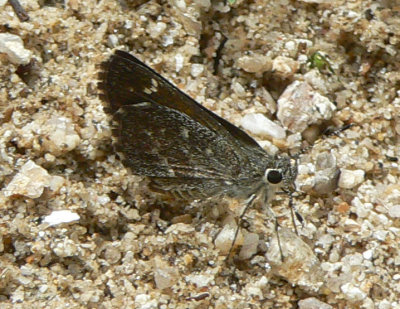
[[[117,150],[134,174],[231,181],[247,167],[234,145],[169,107],[152,102],[126,105],[115,120]]]

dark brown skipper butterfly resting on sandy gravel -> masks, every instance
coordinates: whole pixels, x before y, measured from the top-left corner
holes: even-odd
[[[101,98],[115,122],[116,151],[154,191],[184,199],[231,197],[267,204],[294,191],[297,166],[206,109],[131,54],[101,65]],[[244,212],[243,212],[244,215]]]

